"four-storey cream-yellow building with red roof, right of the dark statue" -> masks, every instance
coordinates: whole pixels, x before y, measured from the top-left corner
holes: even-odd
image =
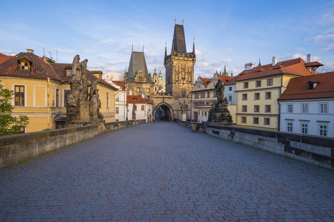
[[[268,65],[245,65],[236,80],[237,126],[278,130],[280,108],[278,98],[291,78],[317,74],[319,62],[305,62],[301,58]]]

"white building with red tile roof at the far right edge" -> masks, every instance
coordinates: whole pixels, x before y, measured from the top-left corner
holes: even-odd
[[[292,78],[280,96],[280,127],[288,133],[334,137],[334,71]]]

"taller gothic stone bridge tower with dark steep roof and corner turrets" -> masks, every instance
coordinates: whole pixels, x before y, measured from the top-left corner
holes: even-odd
[[[195,42],[193,51],[186,53],[184,26],[175,24],[172,51],[167,56],[165,49],[164,65],[166,67],[166,94],[173,98],[189,98],[193,89],[193,66],[196,62]]]

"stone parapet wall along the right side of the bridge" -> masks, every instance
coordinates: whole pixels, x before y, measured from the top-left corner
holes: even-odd
[[[334,138],[205,124],[209,135],[334,170]]]

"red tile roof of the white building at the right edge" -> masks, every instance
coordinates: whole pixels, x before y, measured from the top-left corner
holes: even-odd
[[[318,83],[309,89],[309,81]],[[334,98],[334,71],[292,78],[285,92],[278,100]]]

